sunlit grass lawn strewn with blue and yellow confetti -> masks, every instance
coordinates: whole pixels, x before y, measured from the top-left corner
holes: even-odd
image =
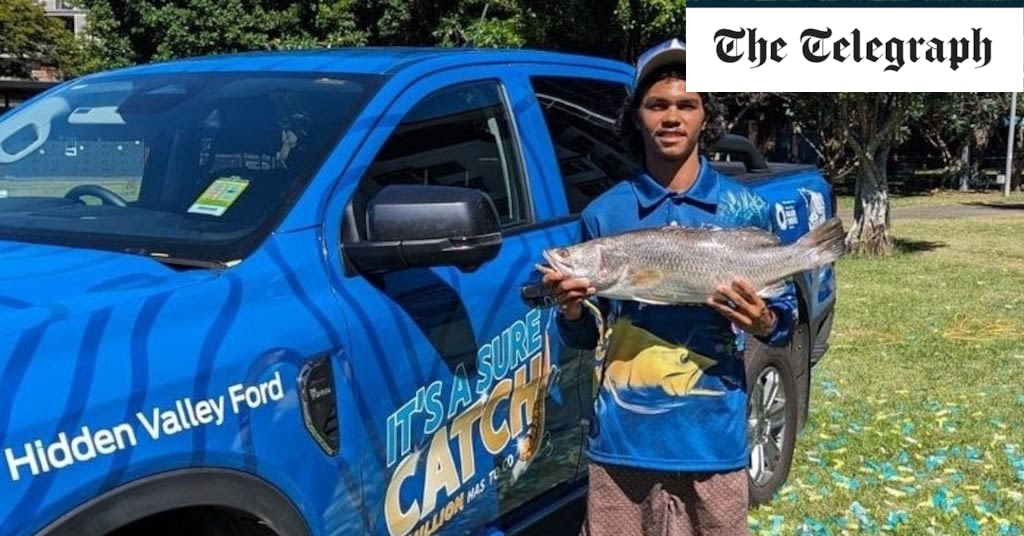
[[[755,534],[1024,534],[1024,217],[894,225],[894,256],[839,261],[833,347]]]

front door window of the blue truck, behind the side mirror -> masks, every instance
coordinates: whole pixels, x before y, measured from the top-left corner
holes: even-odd
[[[503,226],[526,223],[526,189],[511,124],[496,81],[438,90],[402,118],[353,203],[365,203],[388,184],[473,188],[490,196]]]

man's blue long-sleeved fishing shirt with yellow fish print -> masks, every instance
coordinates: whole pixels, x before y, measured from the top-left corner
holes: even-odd
[[[583,211],[581,241],[662,225],[757,226],[771,231],[768,204],[701,157],[694,183],[674,193],[646,174],[624,180]],[[777,319],[761,339],[787,344],[797,324],[792,282],[766,299]],[[597,395],[588,451],[599,463],[666,471],[745,467],[746,333],[703,304],[599,300],[608,330],[597,352]],[[558,316],[565,345],[593,349],[595,319]]]

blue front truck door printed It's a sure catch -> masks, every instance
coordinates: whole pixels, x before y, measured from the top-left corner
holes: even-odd
[[[343,455],[360,468],[375,534],[465,534],[577,476],[578,375],[563,373],[552,312],[519,298],[553,238],[534,225],[530,193],[543,190],[502,76],[463,68],[413,83],[373,114],[382,123],[335,196],[342,255],[367,239],[367,203],[388,184],[480,190],[504,229],[498,256],[469,273],[332,263],[353,348],[341,368],[354,408],[341,411],[357,421],[347,441],[365,446]]]

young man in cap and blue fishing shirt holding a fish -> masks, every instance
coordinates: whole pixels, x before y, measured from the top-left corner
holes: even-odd
[[[678,39],[645,52],[623,114],[645,172],[594,200],[582,240],[660,225],[770,230],[768,206],[700,155],[715,107],[686,90]],[[585,280],[546,273],[565,344],[593,348],[598,332]],[[586,536],[749,534],[746,334],[772,345],[796,324],[793,287],[764,300],[744,279],[706,305],[601,303],[610,333],[590,430]]]

